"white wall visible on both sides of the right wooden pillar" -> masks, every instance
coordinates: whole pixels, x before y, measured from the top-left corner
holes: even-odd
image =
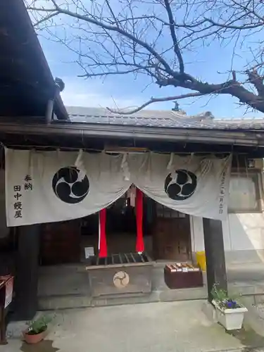
[[[222,222],[227,265],[264,262],[264,213],[229,214]],[[191,217],[192,251],[204,251],[203,220]]]

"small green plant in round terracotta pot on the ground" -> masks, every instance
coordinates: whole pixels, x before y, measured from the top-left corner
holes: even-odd
[[[49,322],[51,322],[51,318],[44,315],[36,320],[28,322],[27,331],[24,332],[24,339],[27,344],[37,344],[42,341],[45,337]]]

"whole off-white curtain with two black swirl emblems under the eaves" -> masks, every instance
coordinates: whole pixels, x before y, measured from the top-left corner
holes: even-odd
[[[5,149],[8,226],[82,218],[107,208],[130,184],[189,215],[224,220],[232,156]],[[131,197],[134,201],[133,196]]]

